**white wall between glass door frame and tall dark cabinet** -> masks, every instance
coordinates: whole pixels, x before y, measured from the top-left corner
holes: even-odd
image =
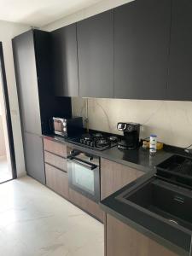
[[[9,90],[9,104],[14,134],[15,158],[18,177],[25,175],[26,169],[24,163],[23,145],[20,130],[20,114],[17,99],[15,68],[11,39],[14,38],[16,35],[20,34],[21,32],[25,32],[29,28],[29,26],[0,20],[0,41],[3,43],[3,55]]]

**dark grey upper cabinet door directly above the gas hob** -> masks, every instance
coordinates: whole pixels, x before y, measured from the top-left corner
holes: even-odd
[[[113,97],[113,11],[82,20],[77,28],[79,95]]]

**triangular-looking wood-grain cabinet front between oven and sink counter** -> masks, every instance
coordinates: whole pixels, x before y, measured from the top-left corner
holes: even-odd
[[[144,172],[129,166],[115,163],[111,160],[101,159],[101,200],[122,189]]]

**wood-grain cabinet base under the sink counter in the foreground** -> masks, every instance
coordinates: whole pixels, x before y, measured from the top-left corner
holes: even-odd
[[[105,220],[105,256],[178,256],[107,214]]]

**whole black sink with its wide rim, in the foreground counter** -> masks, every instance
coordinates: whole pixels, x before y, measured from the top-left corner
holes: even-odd
[[[192,191],[154,174],[127,186],[115,197],[133,223],[170,241],[185,252],[192,237]]]

